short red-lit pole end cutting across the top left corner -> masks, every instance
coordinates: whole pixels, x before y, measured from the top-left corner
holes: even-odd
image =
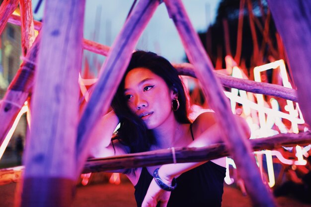
[[[6,25],[10,15],[14,12],[18,5],[18,0],[3,0],[0,5],[0,34]]]

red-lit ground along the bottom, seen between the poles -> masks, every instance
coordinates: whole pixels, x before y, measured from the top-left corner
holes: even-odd
[[[0,206],[13,207],[16,183],[0,186]],[[276,199],[280,207],[311,207],[292,198]],[[134,187],[129,182],[120,185],[102,183],[79,185],[73,207],[136,207]],[[233,186],[225,186],[222,207],[251,207],[248,196]]]

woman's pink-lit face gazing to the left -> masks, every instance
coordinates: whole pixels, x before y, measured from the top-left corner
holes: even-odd
[[[125,77],[124,95],[131,111],[145,122],[148,129],[155,129],[174,119],[171,101],[177,98],[177,94],[149,69],[129,71]]]

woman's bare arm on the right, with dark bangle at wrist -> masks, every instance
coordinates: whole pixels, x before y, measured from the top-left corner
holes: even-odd
[[[244,119],[236,117],[236,121],[240,122],[243,131],[245,132],[246,136],[249,137],[250,131]],[[212,113],[201,114],[194,121],[193,125],[194,125],[193,134],[195,140],[193,140],[188,145],[188,147],[202,147],[212,143],[220,142],[222,140],[221,129],[219,125],[215,123],[214,116]],[[222,166],[226,165],[224,158],[220,159],[217,159],[214,162],[216,164],[219,164],[218,162],[220,161],[220,163],[223,163],[221,164]],[[191,170],[199,165],[202,165],[205,162],[207,161],[162,165],[158,170],[158,175],[166,185],[170,186],[172,179],[174,177],[177,177],[188,170]],[[153,179],[147,191],[146,197],[143,201],[142,207],[156,207],[157,202],[160,202],[160,207],[166,207],[169,196],[170,192],[161,189],[156,184],[155,179]]]

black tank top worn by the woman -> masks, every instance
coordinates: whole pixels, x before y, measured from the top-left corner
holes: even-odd
[[[191,125],[190,130],[193,139]],[[167,207],[221,207],[225,176],[226,168],[211,161],[181,174],[176,179],[177,187],[172,191]],[[142,206],[152,179],[153,176],[143,167],[135,186],[138,207]]]

